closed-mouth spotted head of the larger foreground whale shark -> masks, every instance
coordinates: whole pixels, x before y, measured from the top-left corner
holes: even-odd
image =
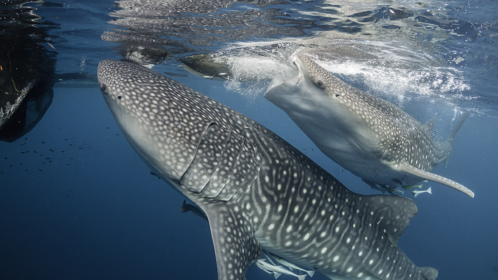
[[[101,61],[99,86],[125,138],[160,177],[177,182],[192,161],[202,114],[182,97],[193,92],[146,68]]]

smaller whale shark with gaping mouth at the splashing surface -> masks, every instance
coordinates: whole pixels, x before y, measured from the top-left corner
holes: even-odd
[[[453,180],[431,173],[448,160],[455,134],[448,140],[431,138],[434,118],[420,125],[392,103],[356,89],[315,63],[294,55],[298,75],[278,84],[264,97],[284,110],[325,153],[369,185],[411,186],[431,180],[474,197],[474,192]]]

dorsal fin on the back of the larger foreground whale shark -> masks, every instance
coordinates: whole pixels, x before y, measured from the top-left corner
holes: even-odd
[[[375,223],[391,245],[397,247],[399,237],[418,212],[415,202],[400,196],[385,195],[364,195],[362,200],[364,207],[367,207],[367,215],[372,216],[372,224]]]

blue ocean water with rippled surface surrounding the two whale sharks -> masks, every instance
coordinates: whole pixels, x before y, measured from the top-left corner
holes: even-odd
[[[36,44],[55,52],[53,99],[31,131],[0,141],[0,279],[217,279],[208,224],[179,211],[184,197],[150,174],[95,80],[100,60],[143,62],[143,48],[159,57],[154,71],[268,127],[349,189],[377,193],[263,98],[302,47],[421,123],[437,113],[436,138],[449,134],[457,112],[471,112],[447,168],[433,172],[475,198],[432,182],[424,183],[432,195],[405,191],[418,214],[399,246],[418,266],[436,268],[438,280],[498,279],[496,1],[169,2],[169,16],[155,13],[157,1],[24,4],[38,17],[23,20],[47,27]],[[13,28],[6,18],[0,35]],[[224,61],[233,78],[184,70],[182,60],[198,53]],[[64,76],[75,73],[84,78]],[[272,278],[249,267],[249,280]]]

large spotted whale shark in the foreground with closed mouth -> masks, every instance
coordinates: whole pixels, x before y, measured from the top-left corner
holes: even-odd
[[[104,60],[98,80],[141,159],[206,214],[219,280],[245,280],[263,250],[330,279],[436,279],[397,246],[412,200],[354,193],[262,125],[145,67]]]

